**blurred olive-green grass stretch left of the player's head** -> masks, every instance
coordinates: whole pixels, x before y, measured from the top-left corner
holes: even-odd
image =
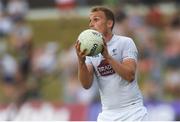
[[[33,28],[35,45],[56,41],[61,47],[68,48],[76,41],[78,34],[88,27],[85,18],[61,18],[29,21]]]

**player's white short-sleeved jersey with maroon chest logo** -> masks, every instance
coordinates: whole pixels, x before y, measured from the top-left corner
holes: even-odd
[[[131,38],[113,35],[107,43],[109,54],[119,62],[126,59],[137,61],[138,51]],[[92,64],[99,86],[102,109],[128,109],[129,106],[142,106],[142,95],[137,81],[128,83],[104,60],[101,54],[86,57],[86,64]]]

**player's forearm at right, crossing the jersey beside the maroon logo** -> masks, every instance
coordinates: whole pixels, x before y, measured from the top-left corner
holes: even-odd
[[[112,57],[107,58],[108,63],[112,66],[114,71],[118,73],[122,78],[128,82],[132,82],[135,78],[135,71],[131,66],[122,64],[119,61],[116,61]]]

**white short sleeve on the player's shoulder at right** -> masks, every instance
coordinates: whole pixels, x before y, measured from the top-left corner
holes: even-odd
[[[131,58],[137,62],[137,57],[138,57],[138,50],[136,48],[136,45],[131,38],[128,38],[123,48],[122,58],[123,60]]]

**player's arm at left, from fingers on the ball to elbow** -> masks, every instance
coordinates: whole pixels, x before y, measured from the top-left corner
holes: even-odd
[[[76,53],[78,56],[78,78],[85,89],[89,89],[93,82],[93,66],[85,63],[85,50],[80,51],[80,43],[75,44]]]

